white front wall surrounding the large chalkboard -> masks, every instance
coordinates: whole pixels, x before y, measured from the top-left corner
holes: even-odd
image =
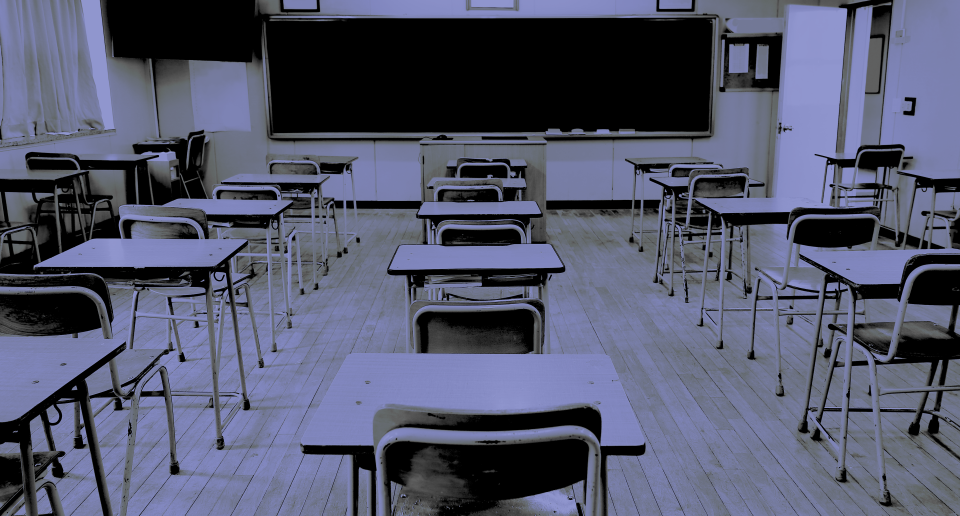
[[[838,0],[699,0],[697,12],[726,17],[782,16],[789,3],[836,5]],[[280,0],[260,0],[260,11],[279,14]],[[553,16],[629,15],[656,12],[656,0],[521,0],[520,11],[466,11],[462,0],[320,0],[325,15],[394,16]],[[722,23],[722,21],[721,21]],[[722,27],[721,27],[722,28]],[[624,62],[629,54],[624,53]],[[185,135],[193,130],[189,74],[182,65],[157,66],[161,133]],[[213,135],[213,156],[207,160],[207,182],[243,172],[259,172],[268,152],[304,152],[355,155],[357,196],[361,200],[419,200],[419,146],[397,140],[270,140],[266,137],[266,110],[261,62],[247,65],[251,132]],[[625,84],[631,78],[623,78]],[[612,85],[616,86],[616,85]],[[179,93],[177,93],[179,92]],[[185,92],[185,93],[184,93]],[[772,170],[772,129],[776,119],[775,93],[715,92],[714,136],[644,140],[551,141],[547,146],[548,200],[624,200],[631,197],[633,171],[629,157],[695,155],[729,167],[749,167],[751,176],[766,180]],[[165,111],[170,110],[168,115]],[[180,114],[177,114],[180,113]],[[168,121],[169,118],[169,121]],[[293,150],[295,149],[295,151]],[[208,149],[209,151],[209,149]],[[590,180],[584,182],[583,178]],[[329,193],[339,193],[338,180],[329,181]],[[651,185],[652,186],[652,185]],[[656,188],[646,197],[659,199]],[[349,196],[349,194],[348,194]]]

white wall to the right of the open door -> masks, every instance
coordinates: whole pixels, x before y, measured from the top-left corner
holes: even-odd
[[[883,105],[882,143],[902,143],[914,156],[912,168],[960,170],[960,2],[955,0],[894,0],[891,33],[906,29],[910,40],[891,45],[887,60]],[[904,97],[916,97],[915,116],[900,112]],[[903,179],[902,211],[905,212],[913,182]],[[948,209],[952,194],[941,194],[938,209]],[[917,192],[910,233],[919,236],[922,210],[929,209],[929,194]],[[903,219],[901,219],[903,220]],[[946,244],[946,232],[938,231],[935,243]]]

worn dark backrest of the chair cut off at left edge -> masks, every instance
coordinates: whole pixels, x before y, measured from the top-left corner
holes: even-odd
[[[113,338],[113,305],[96,274],[0,274],[0,333],[49,337],[101,328]]]

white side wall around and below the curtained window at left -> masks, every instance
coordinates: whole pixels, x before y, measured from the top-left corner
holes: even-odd
[[[104,8],[102,11],[106,11],[106,9]],[[105,16],[104,26],[106,26]],[[106,28],[104,32],[104,40],[109,52],[111,48],[110,38]],[[25,168],[24,156],[28,152],[131,153],[134,143],[156,136],[156,112],[153,107],[150,70],[146,61],[143,59],[117,59],[108,55],[107,71],[109,73],[111,107],[116,133],[0,148],[0,169]],[[115,196],[115,208],[126,202],[123,172],[110,170],[93,172],[90,174],[90,184],[94,191],[98,193],[113,194]],[[36,204],[29,193],[9,193],[7,194],[7,201],[12,220],[33,220]],[[53,228],[52,217],[45,219],[45,226],[41,227],[41,242],[49,239],[48,227]],[[3,252],[6,252],[5,248]]]

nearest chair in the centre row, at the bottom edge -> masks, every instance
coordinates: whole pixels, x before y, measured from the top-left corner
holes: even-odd
[[[503,514],[577,515],[572,497],[556,490],[583,481],[583,514],[600,515],[600,426],[600,411],[589,404],[522,411],[384,405],[373,417],[378,514],[392,513],[394,482],[398,514],[496,502]]]

